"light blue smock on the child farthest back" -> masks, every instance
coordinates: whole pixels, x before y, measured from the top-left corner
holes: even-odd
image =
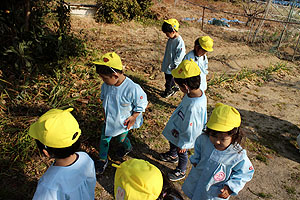
[[[185,45],[182,37],[168,39],[164,59],[161,65],[161,71],[166,74],[171,74],[171,71],[175,69],[182,61],[185,55]]]

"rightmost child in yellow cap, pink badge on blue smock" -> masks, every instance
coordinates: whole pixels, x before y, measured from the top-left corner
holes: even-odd
[[[228,199],[237,195],[252,179],[254,169],[240,146],[240,113],[233,107],[216,104],[205,134],[195,143],[191,172],[182,189],[191,199]]]

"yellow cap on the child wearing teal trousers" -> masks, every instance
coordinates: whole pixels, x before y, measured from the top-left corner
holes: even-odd
[[[100,60],[93,62],[95,65],[105,65],[114,69],[122,70],[121,58],[115,52],[109,52],[101,56]]]

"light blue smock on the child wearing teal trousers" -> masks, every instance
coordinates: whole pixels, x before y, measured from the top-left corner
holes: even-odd
[[[142,112],[145,112],[148,105],[147,95],[130,78],[126,77],[119,86],[103,83],[100,99],[103,103],[106,119],[105,136],[114,137],[128,131],[124,122],[133,112],[140,114],[130,129],[139,128],[143,124]]]

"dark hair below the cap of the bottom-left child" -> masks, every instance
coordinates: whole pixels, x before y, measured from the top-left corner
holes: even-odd
[[[53,158],[67,158],[70,155],[73,155],[75,152],[77,152],[80,147],[80,139],[78,139],[74,144],[72,144],[72,146],[65,148],[48,147],[41,143],[39,140],[35,141],[41,153],[43,153],[43,149],[46,149],[49,155]]]

